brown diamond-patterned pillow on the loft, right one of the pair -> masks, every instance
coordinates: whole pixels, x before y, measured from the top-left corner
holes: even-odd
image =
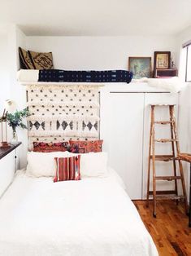
[[[54,69],[51,52],[28,51],[34,69]]]

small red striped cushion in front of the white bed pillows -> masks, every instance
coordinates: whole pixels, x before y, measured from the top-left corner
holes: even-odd
[[[54,182],[64,180],[80,180],[80,156],[55,157],[56,175]]]

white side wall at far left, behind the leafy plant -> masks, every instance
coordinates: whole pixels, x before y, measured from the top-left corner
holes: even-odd
[[[16,73],[20,68],[18,47],[25,47],[25,35],[15,24],[8,25],[6,31],[6,34],[0,35],[0,115],[5,99],[15,100],[19,110],[26,106],[25,88],[16,81]],[[20,147],[23,152],[20,161],[22,168],[26,165],[27,130],[18,128],[17,132],[19,140],[22,141]],[[8,142],[11,138],[12,130],[8,127]]]

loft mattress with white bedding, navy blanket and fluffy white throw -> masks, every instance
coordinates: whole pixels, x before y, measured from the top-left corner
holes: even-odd
[[[80,77],[81,76],[81,77]],[[59,69],[37,70],[20,69],[17,80],[22,85],[87,85],[110,86],[123,88],[123,90],[137,91],[168,91],[177,93],[184,89],[184,83],[179,77],[171,78],[147,78],[133,79],[132,73],[126,70],[108,71],[64,71]],[[130,86],[129,86],[130,84]]]

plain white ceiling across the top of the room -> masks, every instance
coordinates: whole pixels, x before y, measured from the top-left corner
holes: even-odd
[[[173,35],[191,25],[191,0],[0,0],[0,28],[26,35]]]

